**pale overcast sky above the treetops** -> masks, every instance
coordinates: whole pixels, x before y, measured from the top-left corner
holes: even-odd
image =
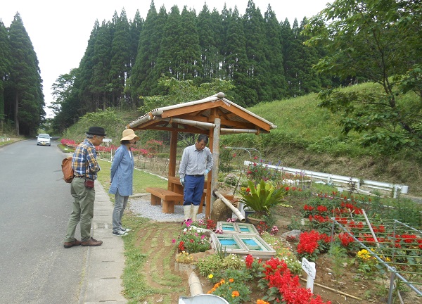
[[[260,8],[262,15],[268,5],[276,13],[279,22],[288,19],[290,26],[295,18],[298,22],[304,17],[312,17],[326,7],[330,0],[254,0],[255,7]],[[210,11],[216,8],[221,13],[227,8],[237,6],[241,15],[245,13],[248,0],[154,0],[157,11],[164,6],[170,12],[177,5],[181,11],[184,6],[195,9],[196,14],[202,11],[204,4]],[[151,0],[12,0],[2,1],[0,19],[6,27],[11,25],[18,12],[23,25],[30,36],[34,51],[37,53],[41,79],[43,80],[44,101],[48,106],[53,101],[51,86],[60,75],[77,68],[84,56],[89,34],[98,20],[110,21],[115,11],[120,15],[122,9],[127,18],[133,20],[136,10],[145,19]],[[51,110],[44,109],[51,118]]]

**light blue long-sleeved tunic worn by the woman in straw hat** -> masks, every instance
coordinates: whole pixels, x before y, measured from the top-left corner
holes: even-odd
[[[113,164],[111,165],[111,185],[109,194],[116,194],[117,189],[121,196],[132,195],[134,182],[134,156],[127,147],[117,148]]]

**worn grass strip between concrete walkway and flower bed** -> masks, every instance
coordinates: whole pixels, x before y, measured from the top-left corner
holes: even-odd
[[[186,293],[186,279],[174,274],[170,262],[176,246],[168,240],[179,233],[179,224],[158,224],[142,217],[124,215],[125,226],[133,233],[124,236],[126,257],[122,275],[128,303],[174,303],[174,295]],[[174,227],[169,229],[169,225]],[[172,246],[170,250],[165,247]]]

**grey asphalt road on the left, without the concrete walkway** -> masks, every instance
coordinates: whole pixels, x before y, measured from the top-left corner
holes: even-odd
[[[72,196],[56,145],[0,148],[0,303],[78,302],[88,248],[63,248]]]

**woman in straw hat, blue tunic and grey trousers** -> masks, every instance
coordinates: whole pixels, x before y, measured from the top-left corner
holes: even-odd
[[[122,227],[122,215],[127,200],[132,195],[134,182],[134,156],[131,148],[135,146],[139,137],[133,129],[125,129],[120,139],[121,146],[117,148],[113,164],[111,165],[111,182],[108,193],[115,194],[115,208],[113,210],[113,235],[125,236],[130,229]]]

